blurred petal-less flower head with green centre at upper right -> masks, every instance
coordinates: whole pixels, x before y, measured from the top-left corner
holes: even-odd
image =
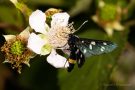
[[[92,16],[93,21],[98,23],[106,31],[108,36],[113,35],[113,31],[123,31],[124,26],[121,25],[122,8],[119,5],[105,3],[100,0],[98,3],[96,15]]]

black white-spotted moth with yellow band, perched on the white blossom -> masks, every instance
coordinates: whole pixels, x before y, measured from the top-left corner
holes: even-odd
[[[69,35],[68,45],[70,50],[68,72],[73,70],[75,63],[79,68],[82,67],[85,56],[108,53],[117,47],[115,43],[110,41],[79,38],[73,34]]]

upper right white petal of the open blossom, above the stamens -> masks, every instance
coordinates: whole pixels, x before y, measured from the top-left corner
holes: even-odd
[[[51,27],[60,25],[60,26],[67,26],[69,20],[68,13],[56,13],[52,16]]]

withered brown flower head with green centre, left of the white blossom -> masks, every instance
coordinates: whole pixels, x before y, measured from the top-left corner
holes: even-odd
[[[5,55],[3,63],[11,63],[13,69],[17,69],[21,73],[22,64],[30,66],[29,60],[34,56],[34,53],[27,48],[27,40],[30,32],[29,27],[19,35],[4,35],[6,42],[1,47],[1,51]]]

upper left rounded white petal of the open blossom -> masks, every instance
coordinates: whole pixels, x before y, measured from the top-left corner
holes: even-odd
[[[46,15],[40,10],[34,11],[29,17],[29,24],[36,32],[46,34]]]

